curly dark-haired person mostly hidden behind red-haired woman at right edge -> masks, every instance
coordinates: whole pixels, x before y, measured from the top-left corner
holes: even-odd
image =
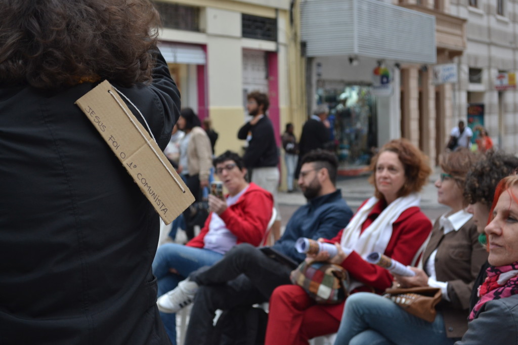
[[[480,234],[479,242],[484,247],[487,245],[484,228],[490,221],[490,209],[496,186],[501,179],[511,175],[517,167],[518,157],[515,155],[503,151],[488,151],[466,175],[464,198],[469,203],[466,211],[473,214],[473,223],[477,225],[477,231]],[[470,309],[473,309],[479,300],[478,287],[484,282],[486,269],[489,266],[486,261],[474,282],[469,300]]]

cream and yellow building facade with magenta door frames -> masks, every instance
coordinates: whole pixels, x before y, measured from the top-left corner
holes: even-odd
[[[289,0],[160,0],[160,46],[182,95],[220,136],[215,153],[242,152],[247,93],[268,94],[278,144],[286,122],[300,125],[304,66]]]

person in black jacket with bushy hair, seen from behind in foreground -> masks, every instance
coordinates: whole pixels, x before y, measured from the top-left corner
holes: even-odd
[[[0,13],[0,343],[168,344],[159,217],[75,104],[108,80],[166,147],[180,95],[158,13],[149,0],[0,0]]]

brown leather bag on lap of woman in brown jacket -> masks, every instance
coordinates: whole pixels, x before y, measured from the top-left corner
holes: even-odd
[[[383,297],[389,298],[399,307],[415,317],[434,322],[437,311],[435,306],[441,300],[441,289],[438,287],[405,287],[386,289]]]

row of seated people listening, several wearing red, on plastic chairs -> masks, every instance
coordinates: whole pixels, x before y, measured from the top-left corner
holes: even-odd
[[[420,209],[420,191],[431,174],[427,162],[406,139],[386,143],[370,165],[375,193],[353,215],[336,188],[335,155],[309,152],[297,181],[308,202],[265,250],[258,246],[271,218],[271,195],[244,180],[237,154],[214,159],[229,194],[225,200],[210,195],[211,213],[200,235],[185,246],[160,247],[153,262],[157,305],[171,341],[176,343],[175,313],[190,303],[185,343],[198,345],[220,343],[214,340],[217,310],[269,301],[266,330],[259,331],[270,345],[307,344],[333,333],[336,345],[515,343],[518,177],[508,176],[518,159],[494,151],[441,155],[437,200],[450,209],[434,225]],[[300,237],[332,243],[337,254],[301,254],[295,249]],[[392,275],[368,263],[364,257],[371,252],[410,266],[415,275]],[[291,271],[305,259],[345,269],[347,298],[317,303],[292,284]],[[423,320],[383,297],[391,286],[438,288],[435,319]]]

